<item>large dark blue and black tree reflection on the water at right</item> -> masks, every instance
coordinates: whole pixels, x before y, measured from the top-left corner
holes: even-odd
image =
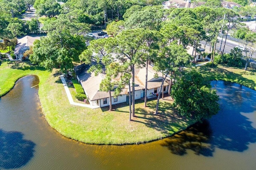
[[[243,152],[250,143],[256,143],[256,128],[245,115],[255,113],[255,91],[224,81],[213,81],[212,86],[221,99],[219,113],[166,139],[162,146],[173,154],[184,155],[190,149],[195,154],[213,156],[216,148]]]

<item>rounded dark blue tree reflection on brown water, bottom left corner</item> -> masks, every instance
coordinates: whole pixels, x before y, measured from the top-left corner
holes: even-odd
[[[34,156],[35,146],[34,142],[23,139],[20,132],[0,129],[0,169],[26,165]]]

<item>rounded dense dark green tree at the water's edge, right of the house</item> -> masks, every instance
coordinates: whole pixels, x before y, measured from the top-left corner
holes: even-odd
[[[210,88],[210,83],[195,71],[178,79],[171,92],[178,114],[200,120],[218,113],[219,97]]]

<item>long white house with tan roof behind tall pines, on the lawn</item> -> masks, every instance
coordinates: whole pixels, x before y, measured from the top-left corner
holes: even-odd
[[[90,105],[93,106],[109,106],[110,98],[109,92],[100,91],[100,83],[105,78],[104,73],[100,73],[95,76],[94,72],[88,73],[89,65],[81,64],[74,68],[76,72],[76,78],[82,85],[86,96],[88,97]],[[148,98],[156,97],[156,93],[160,90],[162,81],[161,74],[158,74],[158,78],[154,78],[156,71],[152,66],[148,66]],[[145,97],[145,78],[146,68],[137,68],[135,76],[135,100]],[[132,84],[132,83],[131,83]],[[164,82],[164,93],[168,92],[169,83],[168,80]],[[114,90],[111,92],[112,104],[119,104],[123,102],[129,102],[129,88],[126,86],[122,92],[115,97]]]

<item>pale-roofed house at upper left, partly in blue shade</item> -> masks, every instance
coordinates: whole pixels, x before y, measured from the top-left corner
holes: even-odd
[[[29,49],[30,46],[33,45],[36,39],[40,39],[40,37],[30,37],[26,35],[25,37],[18,39],[18,43],[14,49],[16,59],[22,60],[23,54]]]

